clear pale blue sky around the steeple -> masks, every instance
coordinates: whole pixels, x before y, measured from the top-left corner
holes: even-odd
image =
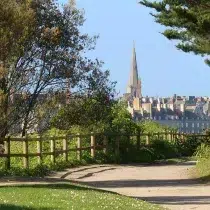
[[[160,34],[164,27],[154,22],[150,9],[136,0],[77,0],[77,7],[85,10],[83,31],[100,35],[90,56],[105,62],[121,94],[135,40],[143,96],[210,96],[210,68],[204,59],[177,50]]]

